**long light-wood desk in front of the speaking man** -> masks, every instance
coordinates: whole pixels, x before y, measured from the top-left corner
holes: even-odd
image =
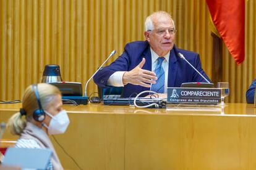
[[[6,121],[19,104],[0,105]],[[256,169],[256,109],[166,111],[65,105],[70,125],[55,136],[82,169]],[[4,138],[17,139],[6,132]],[[53,141],[65,169],[78,169]]]

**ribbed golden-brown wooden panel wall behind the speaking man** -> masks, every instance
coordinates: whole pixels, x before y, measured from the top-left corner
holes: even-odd
[[[237,66],[224,47],[223,81],[230,102],[245,102],[255,74],[255,9],[247,5],[245,62]],[[0,100],[21,99],[25,87],[41,81],[46,64],[61,67],[64,81],[85,85],[113,49],[143,40],[144,20],[166,10],[176,23],[176,44],[198,52],[211,78],[211,36],[205,0],[0,0]],[[84,90],[84,89],[83,89]],[[91,82],[87,94],[96,91]]]

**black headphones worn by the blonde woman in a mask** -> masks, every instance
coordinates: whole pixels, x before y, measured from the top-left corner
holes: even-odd
[[[33,112],[33,118],[36,121],[41,122],[45,119],[45,111],[43,110],[43,107],[40,102],[40,96],[39,96],[37,84],[33,84],[32,89],[33,89],[33,92],[35,93],[35,97],[39,106],[39,108],[36,108],[36,110]]]

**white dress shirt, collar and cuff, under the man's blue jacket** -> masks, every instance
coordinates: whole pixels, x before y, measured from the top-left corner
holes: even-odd
[[[152,64],[151,68],[152,68],[152,70],[155,71],[156,64],[157,64],[157,59],[158,59],[158,57],[161,57],[161,56],[156,54],[156,52],[153,51],[153,49],[151,49],[151,47],[150,47],[150,52],[151,52],[151,64]],[[169,55],[170,55],[170,52],[168,52],[168,54],[163,56],[165,59],[162,63],[162,67],[164,69],[164,93],[167,93],[167,87],[168,87]],[[122,76],[126,72],[127,71],[116,71],[116,72],[114,72],[113,75],[111,75],[109,77],[107,85],[108,86],[115,86],[115,87],[123,87],[124,83],[122,83]]]

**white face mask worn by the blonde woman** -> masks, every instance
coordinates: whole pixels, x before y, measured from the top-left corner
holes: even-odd
[[[45,113],[51,117],[49,126],[43,124],[48,128],[48,133],[63,134],[66,131],[67,126],[69,126],[69,116],[67,116],[66,110],[59,111],[59,113],[55,116],[51,115],[48,111],[45,111]]]

